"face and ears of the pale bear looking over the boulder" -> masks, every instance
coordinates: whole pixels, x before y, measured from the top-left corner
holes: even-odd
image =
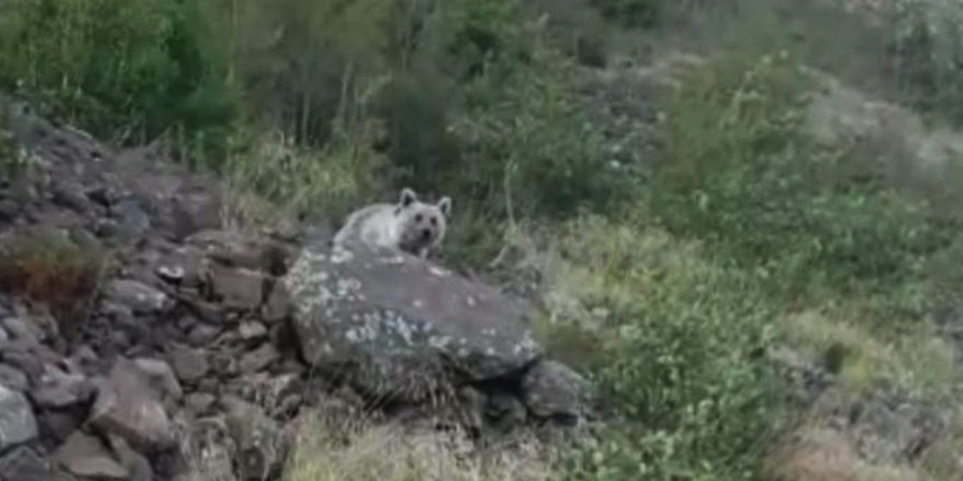
[[[402,190],[394,215],[398,246],[410,253],[424,253],[438,247],[444,239],[451,199],[443,197],[437,203],[421,202],[414,190],[406,188]]]

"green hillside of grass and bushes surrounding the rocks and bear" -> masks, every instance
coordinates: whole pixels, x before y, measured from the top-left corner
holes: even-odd
[[[961,160],[827,141],[813,113],[832,80],[958,132],[961,26],[951,0],[10,0],[0,90],[163,140],[230,181],[231,222],[410,186],[454,198],[444,262],[537,272],[536,328],[595,382],[595,433],[465,458],[318,427],[291,480],[952,481]],[[920,451],[839,422],[891,401],[941,420]]]

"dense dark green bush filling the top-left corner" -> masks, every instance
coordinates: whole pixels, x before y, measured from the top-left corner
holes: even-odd
[[[15,0],[0,17],[0,86],[98,136],[183,129],[223,148],[224,64],[192,1]]]

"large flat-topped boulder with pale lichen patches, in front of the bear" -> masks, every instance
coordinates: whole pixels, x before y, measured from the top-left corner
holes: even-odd
[[[404,253],[315,242],[283,282],[305,360],[372,395],[517,378],[542,355],[526,306]]]

